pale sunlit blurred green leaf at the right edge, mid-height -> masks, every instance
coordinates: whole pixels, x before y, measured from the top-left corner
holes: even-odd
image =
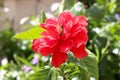
[[[120,40],[120,22],[107,23],[99,34],[102,37],[106,37],[109,40]]]

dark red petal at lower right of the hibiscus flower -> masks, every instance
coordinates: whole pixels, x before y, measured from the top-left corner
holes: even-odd
[[[88,55],[88,53],[85,50],[85,45],[81,45],[79,48],[73,48],[71,50],[76,58],[84,58]]]

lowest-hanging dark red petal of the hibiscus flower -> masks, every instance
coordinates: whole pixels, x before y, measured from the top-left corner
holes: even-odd
[[[67,54],[66,53],[61,53],[61,52],[56,52],[53,53],[52,55],[52,65],[55,67],[59,67],[62,63],[66,62],[67,59]]]

